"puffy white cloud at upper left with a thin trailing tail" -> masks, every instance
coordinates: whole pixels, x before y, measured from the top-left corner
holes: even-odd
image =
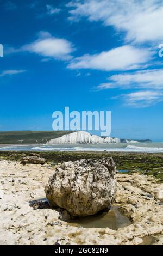
[[[46,58],[57,60],[70,60],[71,53],[75,50],[73,44],[62,38],[55,38],[46,31],[41,31],[34,42],[24,45],[18,49],[8,48],[6,54],[17,52],[35,53]],[[48,59],[49,60],[49,59]]]

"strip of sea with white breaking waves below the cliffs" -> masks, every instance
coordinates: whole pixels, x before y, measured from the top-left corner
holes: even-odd
[[[0,145],[0,151],[109,151],[109,152],[163,152],[163,142],[112,144],[18,144]]]

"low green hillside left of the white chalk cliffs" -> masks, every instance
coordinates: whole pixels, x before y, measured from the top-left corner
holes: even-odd
[[[0,132],[0,144],[40,144],[72,131],[7,131]]]

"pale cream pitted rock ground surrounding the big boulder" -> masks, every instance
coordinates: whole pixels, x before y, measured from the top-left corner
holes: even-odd
[[[43,199],[45,184],[56,167],[51,162],[23,166],[1,155],[1,245],[163,244],[163,184],[154,176],[117,173],[114,207],[130,224],[117,230],[84,228]]]

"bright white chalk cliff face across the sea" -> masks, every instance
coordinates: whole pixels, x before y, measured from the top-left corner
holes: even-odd
[[[121,143],[119,138],[101,138],[98,135],[91,135],[86,131],[78,131],[63,135],[59,138],[51,139],[47,144],[102,144],[102,143]]]

